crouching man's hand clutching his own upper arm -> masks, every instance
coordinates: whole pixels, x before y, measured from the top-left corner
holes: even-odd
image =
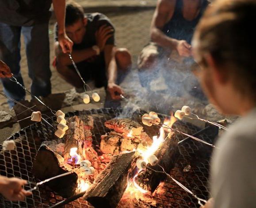
[[[96,44],[99,47],[100,52],[105,48],[108,38],[112,37],[114,34],[114,29],[111,26],[103,25],[96,32]]]

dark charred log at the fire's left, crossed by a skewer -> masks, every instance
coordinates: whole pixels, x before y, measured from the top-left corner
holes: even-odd
[[[46,145],[42,145],[38,149],[38,153],[34,158],[32,174],[40,179],[45,180],[66,172],[72,171],[72,166],[65,163],[64,158],[53,152]],[[53,191],[62,197],[71,197],[76,193],[78,175],[73,172],[62,178],[54,179],[47,182]]]

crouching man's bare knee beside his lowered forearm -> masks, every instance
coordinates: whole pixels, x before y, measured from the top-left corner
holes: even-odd
[[[115,51],[115,59],[121,70],[127,70],[132,64],[132,57],[127,48],[118,48]]]

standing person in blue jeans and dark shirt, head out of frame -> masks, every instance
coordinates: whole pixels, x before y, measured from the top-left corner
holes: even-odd
[[[35,96],[51,93],[49,19],[53,2],[60,25],[59,42],[63,52],[70,52],[72,41],[65,33],[65,0],[0,0],[0,59],[11,69],[13,76],[23,84],[20,73],[20,36],[23,34],[31,92]],[[4,92],[15,100],[24,100],[25,91],[8,78],[1,79]],[[14,102],[8,100],[10,107]]]

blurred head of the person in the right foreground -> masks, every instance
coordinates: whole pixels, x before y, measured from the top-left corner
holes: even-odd
[[[224,113],[235,113],[229,107],[235,92],[236,98],[256,104],[255,20],[255,0],[216,0],[195,31],[192,46],[202,67],[199,80]]]

